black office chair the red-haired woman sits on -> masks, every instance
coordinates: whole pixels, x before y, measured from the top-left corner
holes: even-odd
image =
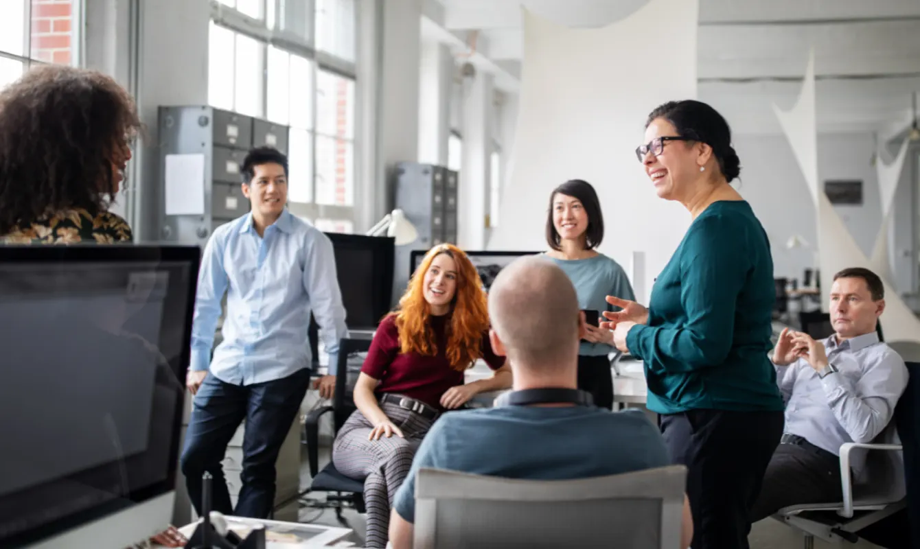
[[[322,471],[319,471],[319,418],[327,412],[332,412],[334,432],[333,437],[339,433],[342,424],[357,409],[352,400],[354,383],[361,373],[362,358],[359,353],[365,353],[371,348],[371,339],[351,339],[343,337],[339,343],[339,368],[336,371],[336,389],[332,396],[332,406],[320,406],[311,411],[305,421],[304,431],[306,439],[307,458],[310,463],[310,476],[313,480],[307,492],[328,492],[326,500],[336,505],[336,518],[348,527],[348,522],[342,517],[343,507],[352,507],[359,513],[364,512],[364,481],[355,480],[342,475],[330,461]],[[356,360],[357,359],[357,360]]]

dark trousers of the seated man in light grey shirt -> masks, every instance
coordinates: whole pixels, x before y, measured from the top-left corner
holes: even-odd
[[[764,487],[751,510],[751,521],[804,503],[834,503],[844,498],[837,456],[809,446],[780,444],[766,466]]]

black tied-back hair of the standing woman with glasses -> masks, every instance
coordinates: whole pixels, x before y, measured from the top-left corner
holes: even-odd
[[[727,181],[731,182],[741,174],[741,159],[731,146],[729,123],[718,110],[693,99],[669,101],[651,111],[645,127],[648,128],[655,119],[668,120],[681,137],[712,147],[719,170]]]

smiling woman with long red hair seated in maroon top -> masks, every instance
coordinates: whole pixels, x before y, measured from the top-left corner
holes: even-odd
[[[494,372],[464,384],[482,358]],[[342,475],[364,478],[366,547],[385,547],[390,507],[434,420],[478,393],[512,385],[489,346],[489,313],[476,267],[456,246],[431,248],[387,315],[354,387],[358,409],[332,446]]]

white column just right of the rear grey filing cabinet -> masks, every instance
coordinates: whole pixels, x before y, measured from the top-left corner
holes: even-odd
[[[489,212],[489,154],[494,110],[492,75],[477,72],[463,86],[463,164],[457,191],[457,241],[460,247],[486,247]]]

